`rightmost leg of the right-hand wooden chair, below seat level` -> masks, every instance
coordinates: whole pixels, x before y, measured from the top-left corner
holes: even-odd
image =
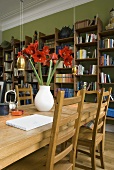
[[[104,141],[102,140],[99,144],[100,146],[100,161],[101,161],[101,168],[104,169],[104,156],[103,156],[103,152],[104,152]]]

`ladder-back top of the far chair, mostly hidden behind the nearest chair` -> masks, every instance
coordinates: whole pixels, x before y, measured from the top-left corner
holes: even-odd
[[[99,95],[100,95],[100,91],[98,91],[98,90],[91,90],[91,91],[88,91],[88,90],[86,90],[85,91],[85,95],[95,95],[95,97],[96,97],[96,100],[95,100],[95,98],[94,98],[94,102],[99,102]],[[80,95],[80,90],[77,92],[77,96],[78,95]],[[92,98],[92,97],[91,97]]]

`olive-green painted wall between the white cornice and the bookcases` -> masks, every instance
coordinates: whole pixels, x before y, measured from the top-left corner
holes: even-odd
[[[106,26],[109,22],[109,11],[114,8],[113,0],[94,0],[92,2],[80,5],[75,8],[75,21],[84,19],[92,19],[94,15],[98,14],[103,25]],[[56,14],[43,17],[41,19],[29,22],[23,25],[23,35],[33,37],[34,31],[45,34],[54,33],[55,28],[61,29],[62,26],[72,27],[74,22],[74,9],[68,9]],[[11,36],[20,39],[20,27],[15,27],[3,32],[2,39],[10,41]]]

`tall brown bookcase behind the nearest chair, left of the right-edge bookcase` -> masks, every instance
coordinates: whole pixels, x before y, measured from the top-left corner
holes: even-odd
[[[95,25],[88,25],[83,28],[76,28],[76,24],[74,90],[76,93],[82,88],[97,90],[99,32],[102,31],[102,22],[97,18]]]

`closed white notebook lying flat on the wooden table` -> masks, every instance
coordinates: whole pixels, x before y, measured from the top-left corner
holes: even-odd
[[[30,116],[7,120],[6,125],[28,131],[52,122],[53,117],[34,114]]]

